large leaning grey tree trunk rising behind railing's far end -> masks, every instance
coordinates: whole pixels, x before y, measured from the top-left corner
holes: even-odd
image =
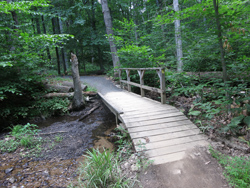
[[[107,0],[101,0],[102,3],[102,12],[103,12],[103,16],[104,16],[104,22],[105,22],[105,26],[106,26],[106,32],[108,35],[108,40],[109,40],[109,45],[110,45],[110,51],[111,51],[111,55],[112,55],[112,60],[113,60],[113,66],[115,67],[119,67],[120,66],[120,62],[119,62],[119,57],[117,56],[117,50],[116,50],[116,46],[114,44],[114,39],[113,39],[113,30],[112,30],[112,20],[111,20],[111,16],[110,16],[110,11],[109,11],[109,7],[108,7],[108,1]]]

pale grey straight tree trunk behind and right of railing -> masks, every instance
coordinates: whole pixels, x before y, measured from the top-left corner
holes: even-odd
[[[174,11],[179,11],[179,2],[178,0],[173,1],[174,4]],[[175,43],[176,43],[176,54],[177,54],[177,72],[183,71],[183,53],[182,53],[182,40],[181,40],[181,22],[180,20],[176,19],[174,21],[175,25]]]

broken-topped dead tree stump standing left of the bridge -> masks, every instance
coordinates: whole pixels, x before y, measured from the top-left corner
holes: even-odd
[[[75,54],[71,53],[72,77],[74,82],[74,96],[72,101],[72,109],[80,110],[84,108],[85,101],[82,95],[82,87],[80,82],[78,60]]]

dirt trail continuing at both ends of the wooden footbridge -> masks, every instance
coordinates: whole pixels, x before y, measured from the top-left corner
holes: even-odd
[[[122,92],[103,76],[82,76],[81,81],[95,87],[100,93]],[[210,155],[208,148],[200,147],[186,152],[179,161],[149,167],[139,175],[143,188],[222,188],[230,187],[223,170]]]

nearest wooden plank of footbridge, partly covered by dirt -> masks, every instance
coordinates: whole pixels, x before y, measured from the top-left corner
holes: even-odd
[[[185,157],[185,152],[177,152],[168,155],[161,155],[157,157],[149,157],[149,161],[153,161],[153,165],[159,165],[164,163],[170,163],[174,161],[179,161]]]

